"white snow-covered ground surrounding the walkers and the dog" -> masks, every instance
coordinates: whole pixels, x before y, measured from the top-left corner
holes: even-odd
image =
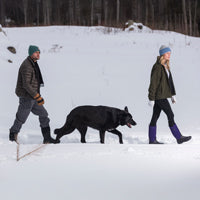
[[[0,33],[0,196],[1,199],[199,199],[200,187],[200,39],[174,32],[121,32],[104,27],[6,28]],[[111,31],[111,32],[110,32]],[[41,93],[52,130],[79,105],[128,106],[137,126],[120,127],[124,144],[107,133],[99,144],[88,129],[87,144],[77,131],[58,145],[46,145],[16,162],[16,144],[8,141],[18,99],[19,65],[30,44],[41,49]],[[158,122],[158,139],[148,145],[152,108],[147,91],[151,67],[162,45],[172,49],[171,68],[177,91],[175,121],[192,141],[177,145],[166,116]],[[6,50],[17,49],[16,55]],[[6,60],[11,59],[12,64]],[[19,135],[20,155],[42,142],[38,119],[30,115]]]

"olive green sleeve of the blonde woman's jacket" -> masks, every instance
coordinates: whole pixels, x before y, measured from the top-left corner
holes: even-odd
[[[154,65],[152,68],[148,95],[150,101],[154,101],[156,98],[156,92],[161,80],[161,70],[160,65]]]

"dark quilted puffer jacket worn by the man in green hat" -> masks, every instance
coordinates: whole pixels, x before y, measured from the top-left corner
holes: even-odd
[[[34,63],[31,57],[27,57],[19,68],[16,95],[33,98],[40,92],[40,84],[42,83],[38,64]]]

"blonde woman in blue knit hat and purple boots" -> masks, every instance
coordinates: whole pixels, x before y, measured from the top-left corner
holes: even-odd
[[[169,128],[176,138],[177,143],[187,142],[192,137],[182,136],[176,123],[174,114],[167,98],[171,98],[172,103],[176,103],[176,92],[169,67],[171,49],[162,45],[159,49],[156,63],[151,71],[151,82],[149,86],[149,105],[153,106],[153,116],[149,125],[149,144],[163,144],[156,140],[156,123],[161,111],[167,115]]]

